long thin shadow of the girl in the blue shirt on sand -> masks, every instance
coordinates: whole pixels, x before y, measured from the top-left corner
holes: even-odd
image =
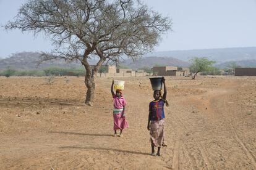
[[[121,150],[121,149],[113,149],[113,148],[102,148],[102,147],[77,147],[77,146],[66,146],[66,147],[59,147],[62,149],[85,149],[85,150],[105,150],[105,151],[114,151],[114,152],[121,152],[121,153],[130,153],[135,155],[150,155],[150,153],[144,153],[144,152],[136,152],[136,151],[130,151],[130,150]]]

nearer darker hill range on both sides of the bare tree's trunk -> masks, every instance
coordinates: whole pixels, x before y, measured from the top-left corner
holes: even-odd
[[[35,70],[42,69],[46,67],[80,67],[81,64],[79,62],[66,63],[64,60],[50,60],[48,62],[44,62],[37,65],[40,60],[40,53],[38,52],[20,52],[17,54],[13,54],[11,57],[7,59],[0,60],[0,70],[4,70],[7,67],[19,69],[19,70]],[[95,64],[96,60],[90,60],[90,64]],[[124,60],[121,65],[133,69],[148,67],[151,68],[155,65],[172,65],[172,66],[180,66],[187,67],[189,66],[188,62],[184,62],[182,60],[174,59],[172,57],[147,57],[138,59],[136,62],[132,60]]]

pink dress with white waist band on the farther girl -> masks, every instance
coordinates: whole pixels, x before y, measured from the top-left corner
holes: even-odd
[[[124,97],[122,96],[118,98],[116,95],[114,95],[113,101],[114,101],[114,110],[113,110],[114,130],[128,128],[129,124],[126,121],[126,117],[122,116],[124,114],[123,108],[126,106],[126,99],[124,99]]]

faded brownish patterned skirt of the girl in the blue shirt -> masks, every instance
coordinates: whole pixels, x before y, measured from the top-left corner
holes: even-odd
[[[161,147],[164,142],[164,120],[150,121],[151,145]]]

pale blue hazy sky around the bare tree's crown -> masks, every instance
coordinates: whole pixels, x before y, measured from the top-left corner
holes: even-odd
[[[155,51],[256,47],[256,0],[141,0],[172,19],[173,31],[162,36]],[[27,0],[0,0],[0,25],[13,20]],[[43,35],[0,27],[0,57],[16,52],[50,52]]]

